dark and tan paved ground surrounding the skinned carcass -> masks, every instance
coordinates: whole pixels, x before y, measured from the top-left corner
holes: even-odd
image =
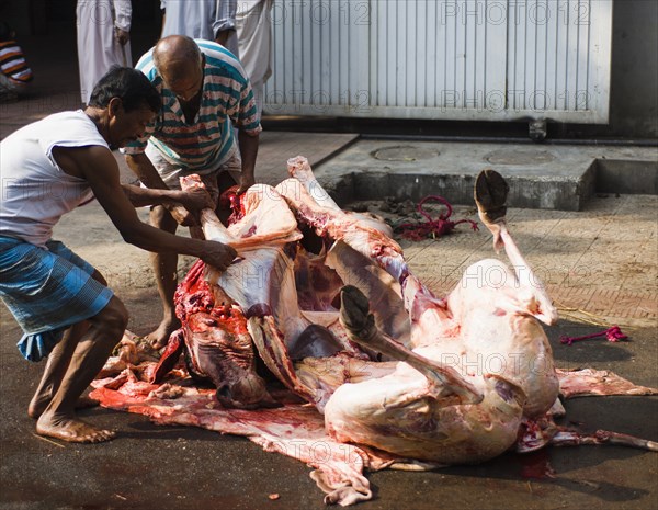
[[[658,386],[655,297],[644,302],[645,316],[623,316],[633,315],[624,294],[633,288],[632,282],[655,296],[651,256],[657,251],[657,205],[655,196],[621,196],[595,200],[583,213],[510,211],[512,233],[529,262],[541,269],[543,277],[549,276],[549,293],[554,298],[555,291],[566,293],[560,298],[563,320],[547,328],[558,366],[608,369],[635,383]],[[473,217],[473,209],[457,207],[455,217],[463,216]],[[125,245],[98,205],[66,216],[56,234],[107,276],[131,310],[132,330],[145,333],[157,324],[159,304],[147,254]],[[401,242],[412,270],[440,295],[469,261],[492,256],[487,234],[462,228],[436,240]],[[191,262],[182,260],[181,272]],[[569,302],[569,296],[580,296],[580,288],[598,293],[601,308],[592,307],[593,301]],[[613,293],[610,299],[606,290]],[[560,335],[602,329],[576,318],[589,320],[591,315],[565,313],[566,308],[621,324],[631,341],[560,344]],[[0,508],[325,508],[308,477],[309,468],[266,454],[242,438],[157,427],[143,416],[103,409],[82,416],[117,429],[120,437],[110,443],[75,445],[34,435],[34,422],[25,411],[41,366],[20,358],[14,345],[20,331],[4,307],[0,320]],[[567,422],[585,430],[609,429],[658,440],[657,398],[575,399],[566,407]],[[554,478],[544,477],[547,465]],[[478,466],[370,474],[375,499],[360,508],[645,510],[656,508],[657,474],[655,453],[616,446],[549,449],[524,456],[508,454]],[[270,500],[270,494],[279,494],[280,499]]]

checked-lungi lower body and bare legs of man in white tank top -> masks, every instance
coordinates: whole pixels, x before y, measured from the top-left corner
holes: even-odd
[[[0,236],[0,297],[25,331],[18,344],[23,356],[48,358],[29,407],[37,432],[72,442],[111,439],[114,432],[75,413],[128,320],[105,280],[61,242],[39,248]]]

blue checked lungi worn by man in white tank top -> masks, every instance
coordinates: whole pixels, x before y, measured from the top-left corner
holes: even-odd
[[[0,298],[25,333],[18,347],[30,361],[47,356],[70,326],[97,315],[114,295],[61,242],[49,240],[46,248],[0,236]]]

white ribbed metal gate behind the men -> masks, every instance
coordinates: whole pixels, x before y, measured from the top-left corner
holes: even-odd
[[[276,0],[265,112],[606,123],[612,0]]]

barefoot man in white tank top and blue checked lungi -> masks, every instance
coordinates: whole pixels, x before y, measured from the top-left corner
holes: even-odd
[[[114,437],[78,419],[75,408],[128,319],[103,276],[50,239],[64,214],[95,197],[122,237],[139,248],[198,257],[219,270],[235,258],[223,243],[144,224],[134,208],[175,202],[197,211],[213,206],[205,191],[120,183],[111,149],[137,139],[159,107],[160,97],[141,72],[115,68],[98,82],[84,111],[50,115],[0,143],[0,297],[25,332],[21,353],[31,361],[47,356],[27,409],[41,435],[92,443]]]

